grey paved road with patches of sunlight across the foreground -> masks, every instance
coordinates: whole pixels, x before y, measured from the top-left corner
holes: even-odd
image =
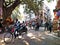
[[[0,45],[60,45],[60,38],[55,37],[52,33],[42,31],[28,30],[28,34],[21,38],[16,38],[14,43],[4,43],[3,35],[0,34]]]

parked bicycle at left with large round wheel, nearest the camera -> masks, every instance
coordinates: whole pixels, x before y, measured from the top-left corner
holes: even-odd
[[[4,42],[9,43],[9,42],[14,42],[14,39],[21,35],[23,32],[27,33],[27,28],[24,29],[20,28],[19,31],[15,31],[15,27],[13,27],[10,31],[6,31],[4,34]]]

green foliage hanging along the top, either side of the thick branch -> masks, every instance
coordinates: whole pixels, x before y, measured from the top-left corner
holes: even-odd
[[[15,1],[17,2],[17,0],[4,0],[4,6],[8,8],[11,5],[13,5]],[[39,9],[42,9],[44,0],[39,0],[39,1],[38,0],[19,0],[19,1],[21,1],[20,4],[26,4],[25,6],[26,13],[29,13],[31,11],[35,13],[35,12],[38,12]]]

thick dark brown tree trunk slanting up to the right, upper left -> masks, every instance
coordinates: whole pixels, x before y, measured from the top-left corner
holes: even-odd
[[[21,1],[16,0],[10,7],[3,6],[3,21],[6,20],[7,17],[11,16],[12,11],[21,3]]]

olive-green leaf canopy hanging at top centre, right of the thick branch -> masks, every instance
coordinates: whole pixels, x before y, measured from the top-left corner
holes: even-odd
[[[25,6],[25,12],[29,13],[33,11],[35,15],[39,15],[39,10],[43,7],[43,1],[44,0],[27,0],[27,5]]]

